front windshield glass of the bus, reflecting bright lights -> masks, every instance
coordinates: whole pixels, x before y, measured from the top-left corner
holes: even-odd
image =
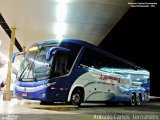
[[[48,78],[52,59],[46,61],[46,52],[51,47],[46,46],[42,47],[40,50],[27,52],[21,63],[18,78],[22,81],[34,81]]]

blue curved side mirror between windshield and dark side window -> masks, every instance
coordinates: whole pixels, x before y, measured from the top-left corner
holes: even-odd
[[[71,51],[70,49],[68,48],[63,48],[63,47],[52,47],[50,48],[47,53],[46,53],[46,60],[49,61],[51,59],[51,56],[52,56],[52,53],[57,51],[57,50],[60,50],[60,51],[65,51],[65,52],[69,52]]]

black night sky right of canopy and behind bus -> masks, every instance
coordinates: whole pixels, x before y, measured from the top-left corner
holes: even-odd
[[[158,16],[158,5],[155,8],[131,7],[99,44],[101,49],[149,70],[152,96],[160,96]]]

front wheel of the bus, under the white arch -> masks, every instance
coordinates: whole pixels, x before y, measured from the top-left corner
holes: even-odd
[[[71,103],[73,105],[77,105],[80,106],[82,102],[82,94],[81,91],[79,89],[76,89],[73,91],[72,96],[71,96]]]

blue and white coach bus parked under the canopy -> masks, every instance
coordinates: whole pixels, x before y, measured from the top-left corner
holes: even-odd
[[[77,39],[34,43],[17,75],[17,97],[42,104],[66,102],[129,103],[149,101],[150,73],[144,68]]]

